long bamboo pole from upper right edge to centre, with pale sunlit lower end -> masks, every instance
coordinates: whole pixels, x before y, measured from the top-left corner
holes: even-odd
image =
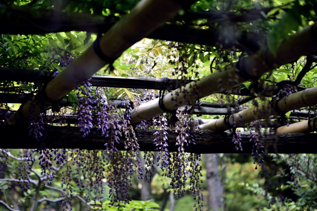
[[[241,59],[238,67],[237,63],[230,64],[217,72],[166,94],[163,98],[163,105],[168,110],[175,110],[201,97],[241,84],[246,79],[237,74],[237,69],[244,70],[252,77],[259,77],[267,71],[298,59],[302,55],[313,53],[317,49],[316,37],[317,24],[308,26],[281,42],[276,57],[267,49],[263,49],[250,57]],[[133,109],[131,122],[136,123],[164,112],[159,107],[159,99],[155,99]]]

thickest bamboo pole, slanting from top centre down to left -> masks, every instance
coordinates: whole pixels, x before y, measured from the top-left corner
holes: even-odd
[[[122,17],[107,33],[100,39],[100,48],[109,58],[117,58],[128,47],[136,41],[151,33],[164,21],[174,16],[181,6],[171,0],[142,0],[129,14]],[[80,85],[84,80],[90,78],[100,70],[107,62],[100,59],[89,47],[86,52],[68,65],[64,71],[51,80],[45,89],[47,97],[51,100],[59,100],[68,92]],[[29,116],[30,101],[22,107],[24,117]],[[46,102],[45,104],[49,104]],[[48,106],[36,105],[34,113],[39,114]],[[16,112],[8,124],[18,123],[21,117]]]

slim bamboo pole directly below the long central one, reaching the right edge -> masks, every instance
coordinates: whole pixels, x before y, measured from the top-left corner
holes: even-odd
[[[259,104],[258,106],[253,106],[236,114],[232,114],[227,119],[221,118],[210,123],[199,125],[198,129],[225,131],[230,129],[233,125],[242,126],[257,119],[266,118],[270,115],[276,115],[277,112],[275,110],[288,112],[290,110],[299,109],[305,106],[315,105],[317,104],[316,96],[317,87],[313,87],[282,98],[276,104],[277,108],[274,108],[275,104],[272,104],[270,101],[266,101]]]

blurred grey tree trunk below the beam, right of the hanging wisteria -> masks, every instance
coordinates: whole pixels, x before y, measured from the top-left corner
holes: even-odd
[[[208,189],[208,209],[210,211],[223,210],[222,202],[223,187],[219,177],[216,154],[205,154],[207,189]]]

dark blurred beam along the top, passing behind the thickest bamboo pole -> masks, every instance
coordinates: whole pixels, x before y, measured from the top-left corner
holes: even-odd
[[[29,9],[4,4],[0,4],[0,12],[2,12],[0,13],[2,14],[0,15],[2,34],[46,34],[66,31],[104,33],[118,20],[115,16],[61,12],[53,9]],[[258,13],[261,15],[260,12],[259,10]],[[207,15],[210,16],[210,14]],[[219,18],[219,15],[215,16],[215,19]],[[233,17],[239,21],[247,20],[246,15],[222,14],[222,17],[226,16],[230,21]],[[254,15],[250,17],[254,19]],[[225,37],[225,34],[230,36]],[[262,34],[239,32],[232,27],[215,30],[175,24],[165,24],[149,34],[147,38],[209,46],[221,45],[228,48],[236,46],[251,51],[259,50],[258,43],[263,40]]]

